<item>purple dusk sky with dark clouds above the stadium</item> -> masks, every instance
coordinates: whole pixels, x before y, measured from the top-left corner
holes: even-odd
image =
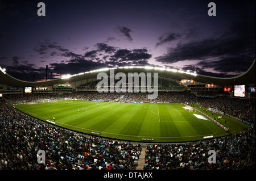
[[[10,0],[0,1],[0,23],[0,66],[24,81],[44,80],[46,65],[48,79],[126,65],[230,77],[255,58],[254,0]]]

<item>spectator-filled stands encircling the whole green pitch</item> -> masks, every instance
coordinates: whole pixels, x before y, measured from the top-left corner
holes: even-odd
[[[0,159],[7,170],[31,169],[136,169],[141,145],[89,136],[55,127],[10,107],[6,102],[37,99],[115,100],[148,102],[144,93],[12,94],[0,102]],[[226,96],[198,97],[190,92],[159,92],[157,102],[197,103],[249,121],[253,128],[239,134],[180,144],[149,144],[146,148],[145,170],[169,169],[255,169],[255,99],[231,99]],[[37,151],[46,150],[46,164],[38,164]],[[210,149],[216,150],[217,164],[205,162]]]

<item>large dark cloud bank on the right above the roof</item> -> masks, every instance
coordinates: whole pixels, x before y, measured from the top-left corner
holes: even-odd
[[[255,24],[236,22],[219,37],[179,43],[155,60],[164,64],[197,60],[197,66],[227,73],[246,71],[255,57]]]

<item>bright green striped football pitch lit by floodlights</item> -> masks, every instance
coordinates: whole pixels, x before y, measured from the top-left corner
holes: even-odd
[[[56,125],[61,127],[89,134],[97,132],[103,137],[130,141],[143,141],[142,138],[154,138],[154,142],[195,141],[202,140],[204,136],[238,133],[249,127],[230,117],[223,117],[222,121],[227,119],[226,125],[229,127],[229,132],[225,132],[213,121],[198,118],[201,115],[199,112],[189,112],[183,107],[183,104],[85,103],[82,100],[15,106],[17,110],[40,120],[52,121],[55,117]],[[208,111],[208,114],[212,116],[212,112]]]

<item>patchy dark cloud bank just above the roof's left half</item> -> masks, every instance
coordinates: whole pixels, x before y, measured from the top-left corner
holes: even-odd
[[[52,72],[52,78],[59,78],[63,74],[77,74],[113,66],[150,65],[148,59],[152,57],[147,48],[125,49],[112,47],[106,43],[97,43],[94,45],[94,49],[85,48],[83,50],[85,51],[83,54],[78,54],[50,40],[44,40],[34,48],[35,52],[43,56],[40,62],[46,63],[53,56],[60,57],[60,62],[48,64],[48,73]],[[32,75],[35,74],[36,81],[45,79],[45,68],[37,68],[27,60],[22,61],[21,64],[20,62],[20,57],[13,57],[10,73],[14,77],[19,77],[24,81],[32,81]]]

